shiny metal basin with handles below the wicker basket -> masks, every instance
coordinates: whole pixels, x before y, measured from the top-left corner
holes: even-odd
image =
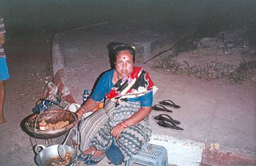
[[[36,164],[40,166],[45,166],[46,162],[49,162],[50,160],[54,159],[56,156],[58,156],[58,145],[52,145],[45,147],[44,145],[36,145],[34,146],[34,150],[36,152]],[[76,151],[73,147],[65,145],[64,146],[66,153],[71,153],[71,160],[70,163],[67,165],[73,165],[74,161],[76,159]],[[38,153],[37,149],[41,149]],[[40,158],[39,158],[40,156]]]

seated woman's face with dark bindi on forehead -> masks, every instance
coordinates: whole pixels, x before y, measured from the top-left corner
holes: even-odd
[[[134,62],[132,54],[128,50],[121,50],[116,57],[116,71],[119,79],[122,79],[133,71]]]

